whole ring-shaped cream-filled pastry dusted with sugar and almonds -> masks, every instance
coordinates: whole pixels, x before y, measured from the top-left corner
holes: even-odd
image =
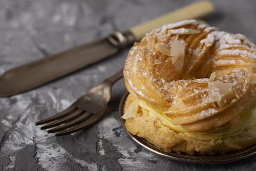
[[[223,154],[256,143],[256,46],[196,20],[133,45],[124,67],[127,130],[166,152]]]

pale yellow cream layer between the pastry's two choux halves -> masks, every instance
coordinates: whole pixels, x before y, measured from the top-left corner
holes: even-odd
[[[247,126],[251,122],[256,122],[256,109],[252,109],[250,112],[247,114],[244,114],[238,121],[237,124],[232,126],[232,128],[223,133],[218,133],[218,134],[209,134],[209,133],[199,133],[199,132],[187,132],[182,126],[180,125],[174,125],[172,123],[172,120],[168,118],[165,114],[164,111],[157,111],[156,109],[148,106],[145,101],[139,100],[139,106],[148,110],[149,114],[151,116],[155,116],[159,118],[162,123],[169,127],[170,129],[174,130],[175,132],[179,134],[185,134],[187,136],[200,139],[200,140],[209,140],[209,139],[217,139],[217,138],[224,138],[224,137],[230,137],[230,136],[235,136],[240,134],[241,132],[244,131],[244,129],[247,128]]]

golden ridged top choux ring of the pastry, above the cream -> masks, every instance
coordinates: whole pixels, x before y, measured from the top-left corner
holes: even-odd
[[[184,34],[188,29],[200,33]],[[180,70],[173,57],[156,49],[160,43],[168,50],[177,40],[185,53]],[[255,107],[256,85],[245,85],[255,67],[256,47],[245,36],[197,22],[176,28],[170,24],[134,44],[126,59],[124,82],[133,96],[165,111],[174,124],[187,131],[218,133]],[[216,72],[214,81],[231,83],[237,92],[223,106],[210,100],[208,78],[212,72]]]

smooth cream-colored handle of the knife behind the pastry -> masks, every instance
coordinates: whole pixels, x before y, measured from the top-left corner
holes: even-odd
[[[139,41],[146,33],[151,30],[161,27],[170,22],[177,22],[185,19],[197,19],[210,14],[214,11],[214,5],[209,1],[199,1],[180,8],[153,20],[142,23],[141,25],[132,27],[130,31],[135,36],[135,40]]]

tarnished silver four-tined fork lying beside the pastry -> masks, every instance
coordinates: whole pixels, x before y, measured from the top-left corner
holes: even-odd
[[[122,78],[123,68],[99,85],[93,87],[86,95],[79,97],[70,107],[56,115],[39,120],[36,126],[47,124],[41,130],[55,136],[71,134],[95,124],[106,112],[111,100],[113,84]]]

